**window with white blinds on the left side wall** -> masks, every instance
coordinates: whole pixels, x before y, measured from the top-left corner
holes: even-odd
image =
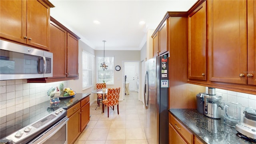
[[[83,90],[94,86],[94,58],[94,55],[82,51]]]

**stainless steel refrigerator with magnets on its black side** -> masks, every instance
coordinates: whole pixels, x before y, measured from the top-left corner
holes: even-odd
[[[168,144],[168,56],[145,62],[144,130],[148,144]]]

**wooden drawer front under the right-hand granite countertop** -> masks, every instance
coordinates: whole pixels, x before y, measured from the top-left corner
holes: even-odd
[[[193,144],[193,134],[189,132],[174,116],[169,114],[169,120],[173,128],[186,140],[189,144]]]

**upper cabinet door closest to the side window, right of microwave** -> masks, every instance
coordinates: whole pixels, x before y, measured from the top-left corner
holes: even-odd
[[[67,33],[67,77],[78,76],[78,39]]]

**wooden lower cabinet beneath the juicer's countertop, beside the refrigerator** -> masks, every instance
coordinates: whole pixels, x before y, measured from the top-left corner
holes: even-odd
[[[169,113],[169,144],[203,144]]]

